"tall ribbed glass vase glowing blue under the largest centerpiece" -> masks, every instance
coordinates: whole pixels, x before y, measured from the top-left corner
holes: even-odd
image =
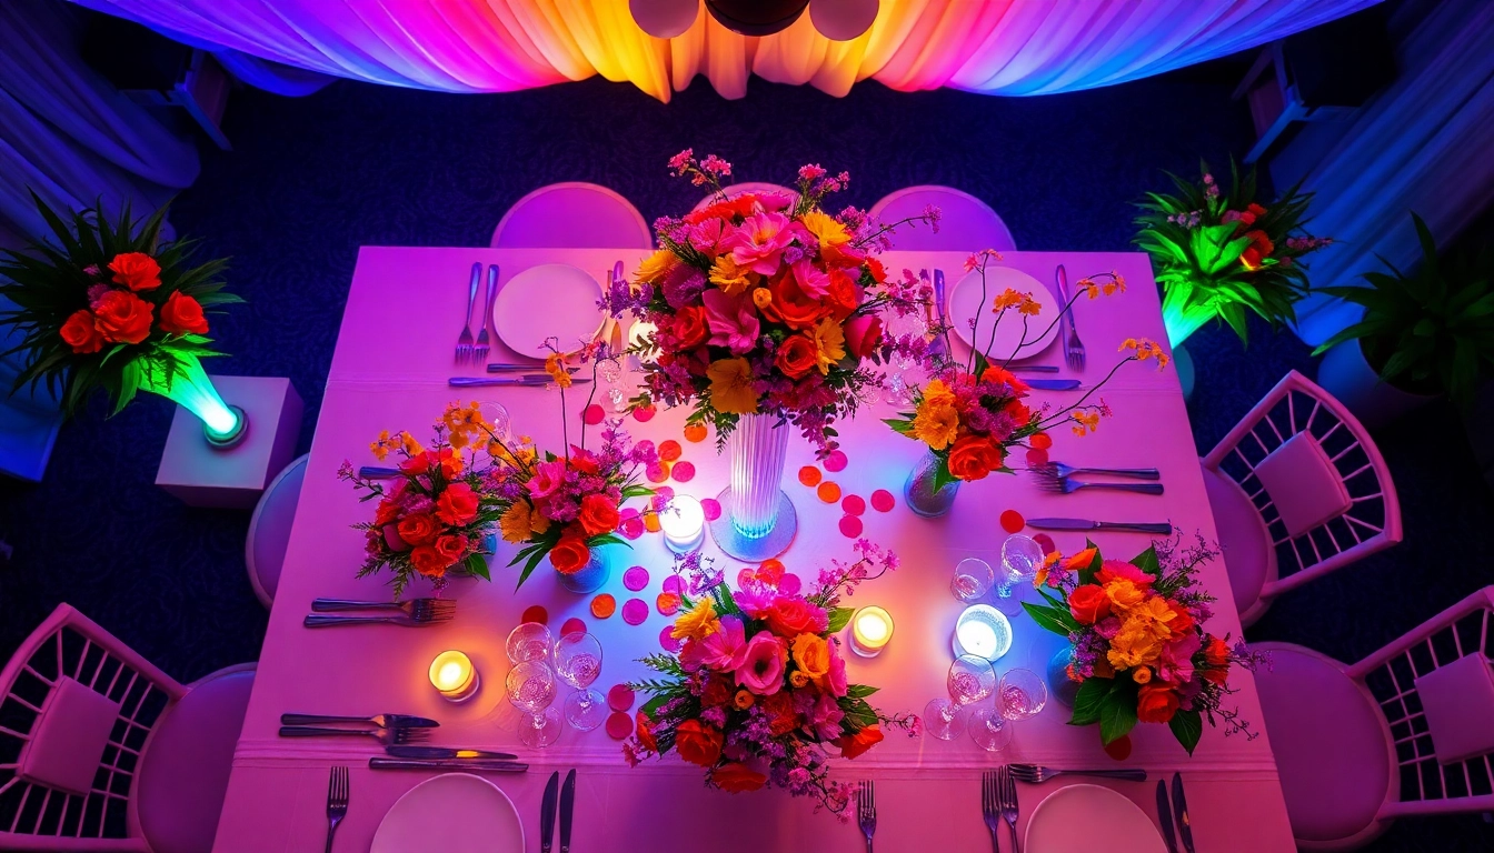
[[[783,465],[793,427],[775,415],[743,415],[728,441],[732,484],[717,496],[720,518],[711,538],[729,557],[760,563],[789,550],[799,529],[793,503],[783,493]]]

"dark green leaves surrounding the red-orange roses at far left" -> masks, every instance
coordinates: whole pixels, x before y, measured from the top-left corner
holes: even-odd
[[[16,305],[0,315],[0,323],[15,326],[21,342],[0,353],[27,353],[27,362],[9,393],[45,382],[61,396],[63,412],[72,415],[102,388],[118,412],[140,388],[169,385],[188,359],[217,356],[212,341],[202,335],[167,335],[155,323],[160,306],[182,293],[197,300],[206,314],[242,302],[224,293],[224,260],[194,264],[194,241],[160,242],[166,206],[145,220],[130,217],[128,203],[111,220],[103,202],[69,214],[67,218],[31,193],[37,212],[52,230],[52,241],[36,244],[24,252],[0,251],[0,296]],[[61,338],[61,327],[75,312],[88,308],[88,288],[109,281],[109,261],[115,255],[143,252],[160,264],[161,284],[136,293],[151,305],[152,330],[140,344],[112,344],[99,353],[73,353]],[[90,267],[100,270],[88,272]]]

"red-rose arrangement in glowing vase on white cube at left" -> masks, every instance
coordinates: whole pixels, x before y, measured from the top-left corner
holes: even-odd
[[[218,356],[208,338],[212,308],[244,302],[223,290],[227,261],[193,263],[194,241],[163,244],[166,208],[143,221],[125,205],[118,218],[99,206],[54,212],[34,193],[54,244],[0,252],[0,296],[18,308],[0,315],[30,359],[10,393],[45,381],[78,411],[103,388],[120,412],[137,391],[161,394],[197,415],[208,441],[233,445],[244,411],[223,402],[200,359]]]

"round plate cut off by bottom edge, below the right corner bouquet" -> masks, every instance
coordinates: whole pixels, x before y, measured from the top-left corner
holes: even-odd
[[[1097,838],[1101,840],[1097,843]],[[1070,784],[1037,804],[1026,853],[1167,853],[1162,837],[1134,802],[1098,784]]]

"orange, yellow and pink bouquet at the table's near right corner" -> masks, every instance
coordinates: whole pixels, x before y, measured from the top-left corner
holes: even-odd
[[[1070,557],[1050,554],[1034,580],[1044,604],[1022,604],[1074,645],[1068,677],[1079,695],[1068,723],[1100,723],[1106,745],[1138,722],[1165,723],[1189,754],[1204,719],[1213,726],[1219,717],[1227,735],[1255,739],[1258,732],[1222,704],[1233,692],[1230,668],[1255,669],[1265,659],[1203,629],[1213,596],[1198,589],[1197,572],[1219,551],[1203,538],[1186,547],[1168,539],[1122,562],[1086,545]]]

